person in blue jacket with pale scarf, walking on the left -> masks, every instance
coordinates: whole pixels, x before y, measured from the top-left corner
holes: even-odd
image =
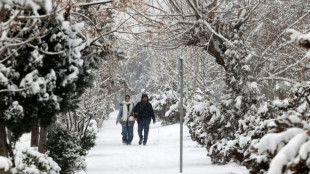
[[[125,101],[121,103],[119,112],[116,118],[116,124],[122,125],[122,140],[124,144],[130,145],[133,139],[133,126],[135,124],[135,118],[133,114],[134,104],[130,100],[130,96],[125,96]]]

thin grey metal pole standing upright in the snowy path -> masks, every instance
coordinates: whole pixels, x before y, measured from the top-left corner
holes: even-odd
[[[183,59],[179,59],[180,68],[180,173],[183,173]]]

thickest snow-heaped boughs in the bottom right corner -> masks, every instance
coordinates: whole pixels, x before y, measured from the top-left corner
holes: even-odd
[[[306,148],[309,135],[300,128],[290,128],[281,133],[269,133],[259,143],[252,146],[251,155],[244,164],[250,167],[250,173],[290,173],[294,168],[304,163],[308,157],[309,149]],[[301,147],[303,149],[301,149]],[[309,172],[309,165],[303,170]],[[297,170],[298,172],[298,170]]]

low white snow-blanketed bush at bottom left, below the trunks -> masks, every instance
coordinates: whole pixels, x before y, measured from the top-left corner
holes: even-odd
[[[11,170],[13,174],[58,174],[60,167],[48,156],[39,153],[32,148],[14,150],[15,167]]]

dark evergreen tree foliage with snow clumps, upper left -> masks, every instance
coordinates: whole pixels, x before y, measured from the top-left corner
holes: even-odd
[[[85,81],[80,78],[88,68],[81,57],[85,43],[77,36],[83,23],[64,21],[55,5],[3,3],[2,12],[11,18],[1,23],[0,119],[16,138],[34,124],[51,124],[66,102],[64,92]]]

